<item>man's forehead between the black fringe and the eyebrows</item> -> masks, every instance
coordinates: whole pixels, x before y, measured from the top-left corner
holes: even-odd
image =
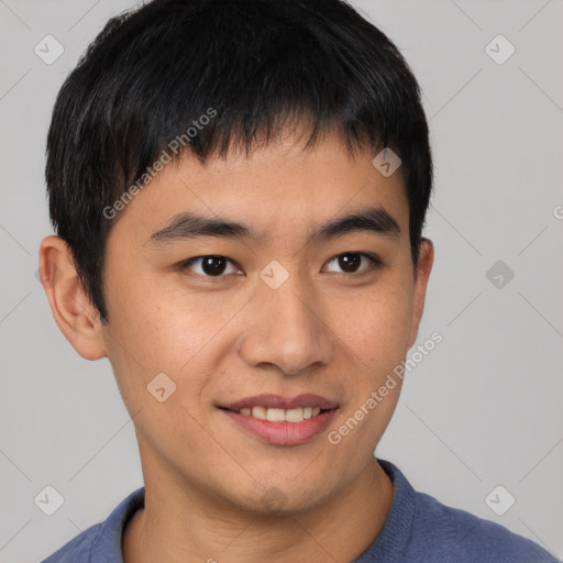
[[[205,164],[186,153],[135,196],[115,230],[121,222],[135,224],[143,243],[181,231],[205,234],[206,229],[263,243],[299,232],[314,242],[331,229],[332,234],[342,232],[338,219],[356,212],[364,222],[400,235],[408,229],[402,176],[400,170],[384,176],[372,164],[372,153],[365,148],[351,155],[336,135],[308,148],[286,136],[250,155],[230,153]]]

